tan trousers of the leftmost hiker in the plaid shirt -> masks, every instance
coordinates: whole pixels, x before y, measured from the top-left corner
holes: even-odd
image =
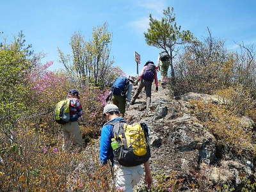
[[[61,125],[63,131],[63,150],[68,149],[70,141],[72,141],[74,147],[83,147],[83,139],[79,129],[78,122],[68,122]]]

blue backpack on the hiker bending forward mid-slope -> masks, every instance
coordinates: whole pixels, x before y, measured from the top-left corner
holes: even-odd
[[[111,87],[111,91],[113,95],[125,96],[128,85],[129,79],[127,79],[127,77],[117,77],[113,83],[113,86]]]

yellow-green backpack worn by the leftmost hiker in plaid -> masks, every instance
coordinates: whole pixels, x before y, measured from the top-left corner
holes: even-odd
[[[54,119],[58,124],[67,124],[70,120],[70,99],[61,100],[54,109]]]

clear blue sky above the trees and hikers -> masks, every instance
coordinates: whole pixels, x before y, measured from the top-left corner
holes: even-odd
[[[212,36],[226,41],[228,49],[234,42],[256,43],[255,0],[0,0],[0,41],[22,30],[36,52],[45,52],[45,61],[54,61],[52,70],[60,68],[57,47],[70,53],[70,37],[80,31],[86,40],[92,28],[108,22],[113,33],[111,56],[126,74],[136,74],[134,51],[141,62],[156,61],[158,50],[145,43],[143,32],[148,15],[161,18],[163,9],[173,6],[177,24],[198,38]],[[142,65],[139,69],[141,70]]]

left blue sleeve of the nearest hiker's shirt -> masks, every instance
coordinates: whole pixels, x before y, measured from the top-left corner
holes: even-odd
[[[106,164],[108,160],[108,152],[111,144],[111,127],[112,125],[104,125],[100,135],[100,164]]]

